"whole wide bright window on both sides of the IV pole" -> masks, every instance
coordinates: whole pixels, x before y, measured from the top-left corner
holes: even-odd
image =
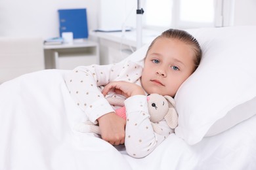
[[[232,25],[235,0],[139,0],[146,29],[222,27]],[[138,0],[101,0],[99,27],[137,27]],[[113,5],[116,8],[113,8]],[[114,21],[114,22],[113,22]]]

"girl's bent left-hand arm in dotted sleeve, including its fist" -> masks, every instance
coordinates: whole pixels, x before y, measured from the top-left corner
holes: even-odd
[[[139,78],[141,69],[136,63],[127,61],[112,65],[77,67],[65,77],[75,103],[91,122],[99,123],[102,139],[110,144],[123,144],[125,121],[114,114],[114,109],[102,95],[101,89],[113,80],[135,81]]]

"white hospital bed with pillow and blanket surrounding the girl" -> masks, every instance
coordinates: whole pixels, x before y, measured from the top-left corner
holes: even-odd
[[[0,85],[0,169],[256,169],[256,26],[188,29],[203,58],[177,95],[179,126],[145,158],[74,130],[85,114],[49,69]],[[148,44],[126,59],[142,59]]]

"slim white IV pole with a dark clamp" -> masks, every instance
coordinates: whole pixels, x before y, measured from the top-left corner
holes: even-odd
[[[137,49],[138,50],[142,46],[142,14],[144,10],[140,9],[140,0],[137,0]]]

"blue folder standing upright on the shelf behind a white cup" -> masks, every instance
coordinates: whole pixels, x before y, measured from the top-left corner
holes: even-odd
[[[60,9],[58,10],[60,22],[60,37],[63,32],[72,32],[74,39],[87,39],[87,13],[86,9]]]

